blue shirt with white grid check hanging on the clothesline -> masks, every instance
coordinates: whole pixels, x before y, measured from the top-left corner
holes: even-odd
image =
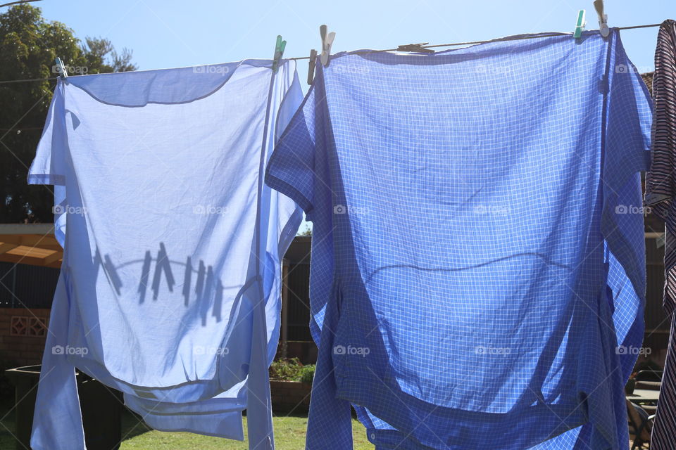
[[[622,449],[651,103],[617,29],[338,53],[266,183],[313,221],[306,448]]]

